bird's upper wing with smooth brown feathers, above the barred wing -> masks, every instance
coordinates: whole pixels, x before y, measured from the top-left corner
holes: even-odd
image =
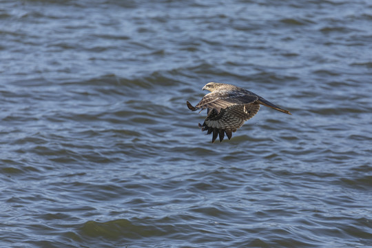
[[[244,91],[219,91],[206,94],[203,99],[195,106],[196,109],[204,110],[214,109],[219,113],[221,109],[231,107],[232,105],[242,105],[253,103],[258,100],[258,96],[252,92]]]

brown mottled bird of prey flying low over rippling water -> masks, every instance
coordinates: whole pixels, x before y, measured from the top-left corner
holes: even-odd
[[[207,109],[207,118],[205,118],[203,125],[199,123],[199,127],[202,131],[207,131],[207,134],[213,133],[212,143],[216,141],[218,134],[220,142],[223,141],[225,134],[230,139],[233,132],[236,132],[245,121],[257,114],[260,105],[291,114],[288,110],[273,105],[254,92],[235,85],[210,82],[204,85],[202,90],[209,90],[210,93],[206,94],[195,107],[188,101],[186,103],[189,110],[192,111],[201,109],[201,112]]]

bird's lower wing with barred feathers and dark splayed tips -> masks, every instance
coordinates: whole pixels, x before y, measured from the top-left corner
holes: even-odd
[[[260,105],[257,102],[231,105],[226,108],[221,108],[220,112],[217,112],[214,108],[209,111],[203,125],[199,123],[199,127],[202,128],[202,131],[207,131],[207,134],[213,132],[212,143],[216,141],[218,135],[220,136],[221,142],[225,134],[227,138],[230,139],[232,132],[236,132],[245,121],[257,114],[258,110],[260,110]]]

